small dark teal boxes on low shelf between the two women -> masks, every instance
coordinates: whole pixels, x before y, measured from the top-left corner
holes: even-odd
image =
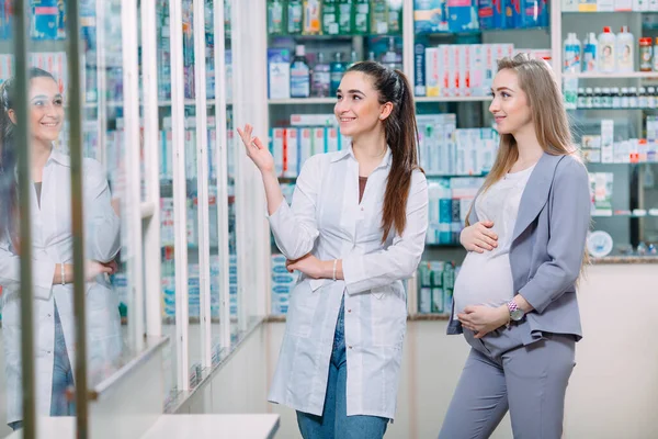
[[[458,268],[447,261],[422,261],[418,266],[418,312],[450,315]]]

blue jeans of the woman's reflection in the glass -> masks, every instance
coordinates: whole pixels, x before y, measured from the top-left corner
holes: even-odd
[[[50,396],[50,416],[75,416],[76,404],[68,401],[66,396],[67,389],[73,386],[73,371],[68,358],[64,330],[61,330],[61,319],[57,303],[55,303],[55,358],[53,361],[53,390]],[[23,428],[23,420],[9,423],[12,430]]]

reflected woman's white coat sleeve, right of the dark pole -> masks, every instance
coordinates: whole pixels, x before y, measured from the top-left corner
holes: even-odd
[[[112,195],[101,164],[84,159],[84,178],[86,257],[110,262],[121,249],[121,218],[112,207]]]

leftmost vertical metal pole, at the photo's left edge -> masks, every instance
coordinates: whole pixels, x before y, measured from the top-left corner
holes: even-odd
[[[30,114],[27,110],[27,45],[30,36],[30,2],[15,0],[15,34],[14,56],[16,69],[14,72],[16,100],[15,112],[19,124],[15,127],[15,147],[18,151],[19,170],[19,202],[21,222],[21,367],[23,373],[23,438],[36,438],[36,405],[34,375],[34,319],[32,292],[32,222],[30,209],[31,176],[31,142]]]

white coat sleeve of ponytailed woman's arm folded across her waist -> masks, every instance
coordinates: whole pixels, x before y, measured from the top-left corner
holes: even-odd
[[[424,250],[427,230],[428,182],[421,171],[415,171],[407,200],[407,226],[402,235],[396,233],[393,244],[385,250],[343,258],[348,293],[362,293],[411,278]]]

